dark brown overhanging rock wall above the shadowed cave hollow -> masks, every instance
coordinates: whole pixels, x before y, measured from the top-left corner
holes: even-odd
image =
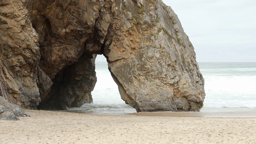
[[[30,0],[30,20],[40,40],[39,67],[51,79],[83,54],[100,7],[90,0]]]

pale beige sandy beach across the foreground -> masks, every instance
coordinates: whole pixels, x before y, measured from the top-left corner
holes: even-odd
[[[162,116],[25,112],[31,117],[0,121],[0,144],[256,143],[256,118],[209,118],[182,112]]]

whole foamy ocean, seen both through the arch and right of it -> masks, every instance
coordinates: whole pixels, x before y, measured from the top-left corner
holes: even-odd
[[[205,81],[204,107],[200,112],[256,110],[256,62],[198,62]],[[96,62],[97,83],[93,104],[70,111],[93,114],[128,114],[136,110],[121,99],[107,62]]]

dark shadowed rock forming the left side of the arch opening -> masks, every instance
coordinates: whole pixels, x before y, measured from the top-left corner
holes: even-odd
[[[89,57],[89,58],[88,58]],[[91,92],[96,83],[95,56],[83,55],[76,64],[67,66],[52,80],[48,99],[40,104],[43,109],[68,109],[92,103]]]

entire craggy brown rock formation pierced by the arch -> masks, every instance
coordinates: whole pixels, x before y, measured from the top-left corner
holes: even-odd
[[[137,112],[203,106],[194,48],[162,0],[4,0],[0,39],[9,96],[22,108],[91,103],[96,54]]]

